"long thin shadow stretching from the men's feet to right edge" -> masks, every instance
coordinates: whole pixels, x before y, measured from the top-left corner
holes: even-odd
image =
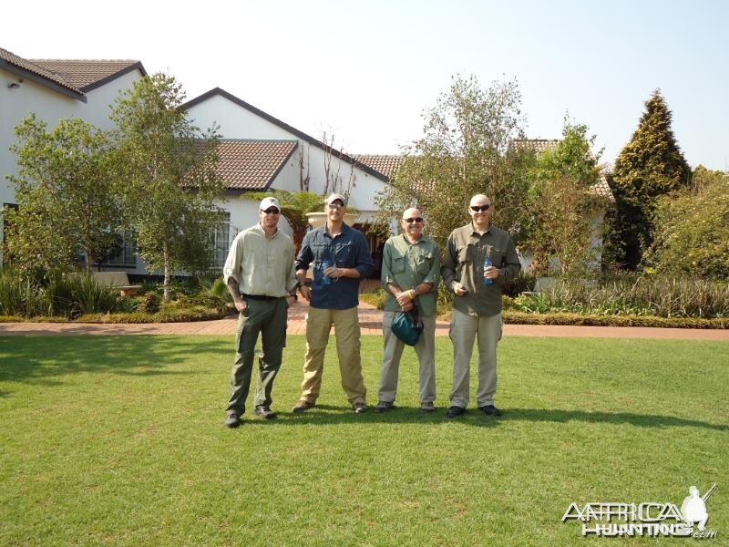
[[[370,410],[366,414],[354,414],[346,407],[317,405],[303,414],[278,412],[275,420],[265,421],[267,426],[329,426],[333,424],[463,424],[477,428],[493,428],[509,421],[570,421],[624,425],[630,424],[641,428],[705,428],[717,431],[729,430],[729,426],[713,424],[697,419],[676,418],[655,414],[632,414],[628,412],[588,412],[586,410],[556,410],[549,408],[508,408],[503,416],[493,418],[486,416],[477,408],[468,408],[467,413],[458,418],[447,418],[447,408],[438,408],[436,412],[423,413],[419,408],[398,407],[395,410],[377,414]],[[264,420],[249,416],[249,422]]]

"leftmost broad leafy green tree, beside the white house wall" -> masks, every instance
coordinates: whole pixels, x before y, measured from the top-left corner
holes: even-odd
[[[54,129],[31,114],[15,128],[16,211],[6,213],[6,246],[15,265],[36,275],[76,267],[87,271],[118,245],[122,218],[107,132],[81,119]]]

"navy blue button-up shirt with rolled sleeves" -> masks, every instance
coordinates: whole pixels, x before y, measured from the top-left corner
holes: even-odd
[[[359,304],[360,280],[373,271],[372,255],[363,233],[346,224],[342,224],[342,233],[334,238],[326,231],[326,226],[303,236],[296,269],[308,270],[309,264],[314,269],[311,305],[322,309],[345,310]],[[330,266],[355,268],[359,278],[323,279],[323,270]]]

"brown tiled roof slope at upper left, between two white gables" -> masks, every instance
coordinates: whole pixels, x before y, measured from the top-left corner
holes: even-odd
[[[82,91],[98,87],[101,82],[139,67],[142,74],[144,68],[139,61],[131,59],[28,59],[38,67],[61,77]]]

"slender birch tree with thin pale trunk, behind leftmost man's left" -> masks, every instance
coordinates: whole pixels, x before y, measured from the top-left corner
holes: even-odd
[[[111,114],[130,225],[149,268],[164,271],[166,302],[173,270],[210,266],[210,231],[220,218],[219,136],[191,123],[179,108],[184,98],[174,77],[155,74],[123,92]]]

